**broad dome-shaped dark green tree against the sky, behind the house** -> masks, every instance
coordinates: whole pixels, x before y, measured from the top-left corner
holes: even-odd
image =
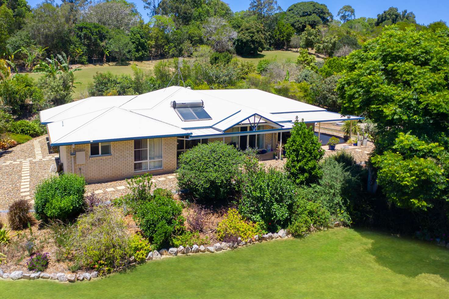
[[[286,10],[286,22],[289,22],[297,33],[304,31],[306,26],[315,28],[332,20],[332,13],[325,4],[315,1],[299,2]]]

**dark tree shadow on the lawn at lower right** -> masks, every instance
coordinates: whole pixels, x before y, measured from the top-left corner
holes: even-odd
[[[395,273],[416,277],[428,273],[439,275],[449,282],[449,250],[423,241],[390,236],[370,230],[356,230],[372,240],[367,250],[376,262]]]

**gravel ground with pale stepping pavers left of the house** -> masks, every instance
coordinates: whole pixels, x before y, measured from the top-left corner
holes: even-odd
[[[54,157],[58,154],[49,154],[47,135],[36,137],[30,141],[0,152],[0,210],[8,209],[16,199],[26,198],[32,201],[35,186],[54,173],[49,169],[55,163]],[[42,158],[36,159],[35,141],[40,147]],[[25,161],[25,162],[24,162]],[[29,161],[29,187],[22,186],[22,165]],[[25,174],[24,174],[25,176]],[[25,179],[26,181],[26,179]]]

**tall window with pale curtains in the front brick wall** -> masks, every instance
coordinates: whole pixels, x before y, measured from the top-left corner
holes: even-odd
[[[134,171],[162,169],[162,138],[134,140]]]

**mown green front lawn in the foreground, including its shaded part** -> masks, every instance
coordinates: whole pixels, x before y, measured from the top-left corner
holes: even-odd
[[[449,250],[335,229],[151,261],[74,284],[2,281],[2,298],[449,298]]]

